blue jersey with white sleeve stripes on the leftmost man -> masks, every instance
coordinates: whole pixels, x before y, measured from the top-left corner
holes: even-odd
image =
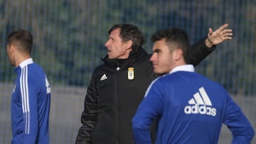
[[[49,143],[50,84],[30,58],[16,67],[11,97],[11,143]]]

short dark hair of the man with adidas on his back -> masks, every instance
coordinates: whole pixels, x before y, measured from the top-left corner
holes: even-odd
[[[188,63],[190,43],[186,31],[180,28],[168,28],[157,31],[151,36],[151,41],[154,43],[158,40],[165,40],[168,45],[174,43],[178,48],[181,48],[184,60]]]

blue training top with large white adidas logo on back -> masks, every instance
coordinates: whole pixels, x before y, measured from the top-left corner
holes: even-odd
[[[196,72],[178,71],[151,83],[132,119],[137,144],[151,143],[155,118],[156,144],[218,143],[222,123],[233,133],[233,143],[250,143],[254,135],[225,89]]]

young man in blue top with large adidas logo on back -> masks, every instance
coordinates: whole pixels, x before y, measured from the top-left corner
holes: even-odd
[[[154,80],[132,119],[137,144],[151,143],[150,126],[158,120],[156,143],[218,143],[224,123],[233,143],[250,143],[250,122],[220,84],[194,72],[188,64],[185,31],[172,28],[152,35]]]

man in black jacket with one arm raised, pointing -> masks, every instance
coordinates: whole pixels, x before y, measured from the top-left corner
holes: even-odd
[[[192,46],[190,63],[198,65],[215,49],[214,45],[231,39],[232,30],[227,27],[225,24],[214,32],[210,28],[208,38]],[[143,43],[137,26],[122,23],[110,28],[104,64],[95,69],[87,87],[76,143],[134,143],[132,117],[147,87],[157,77]]]

